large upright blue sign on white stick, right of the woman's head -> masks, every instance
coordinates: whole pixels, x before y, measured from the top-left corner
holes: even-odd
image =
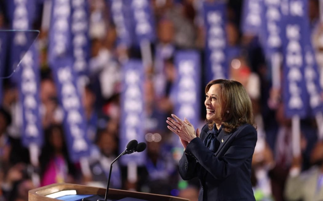
[[[283,102],[287,117],[305,117],[307,114],[308,97],[304,78],[306,60],[304,42],[307,32],[304,18],[305,0],[289,0],[288,13],[283,16],[282,49],[283,62]]]

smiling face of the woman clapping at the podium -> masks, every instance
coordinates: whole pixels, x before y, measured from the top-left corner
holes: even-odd
[[[214,84],[210,87],[209,91],[205,95],[204,105],[206,107],[206,119],[214,121],[215,123],[221,123],[221,86],[220,84]]]

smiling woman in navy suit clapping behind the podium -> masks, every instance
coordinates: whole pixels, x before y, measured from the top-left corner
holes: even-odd
[[[204,104],[207,124],[201,133],[186,118],[172,114],[174,119],[166,121],[184,147],[181,177],[199,178],[199,201],[254,201],[250,178],[257,132],[245,88],[233,80],[212,80],[205,87]]]

